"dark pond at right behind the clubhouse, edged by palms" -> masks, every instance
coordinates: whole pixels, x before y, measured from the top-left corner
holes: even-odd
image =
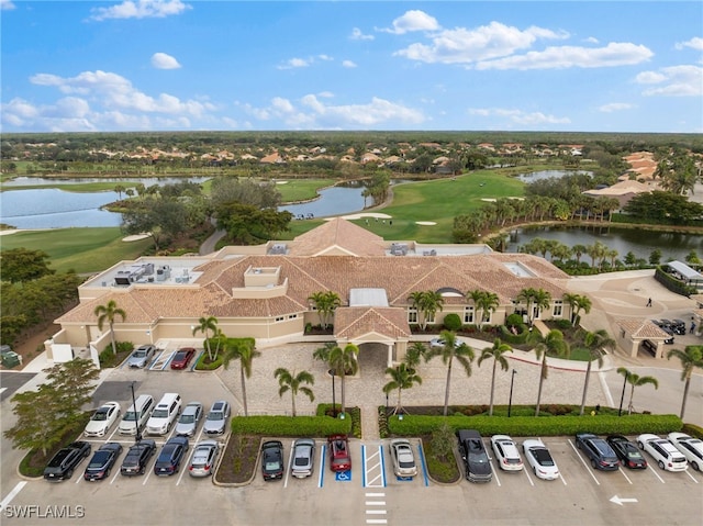
[[[521,227],[511,234],[507,251],[518,251],[520,246],[532,239],[556,239],[571,247],[573,245],[593,245],[596,240],[609,248],[617,250],[618,259],[623,259],[628,251],[638,258],[649,259],[655,248],[661,250],[661,260],[683,258],[695,250],[703,256],[703,236],[680,233],[649,232],[641,228],[618,228],[616,226],[539,226]],[[590,261],[588,256],[585,261]]]

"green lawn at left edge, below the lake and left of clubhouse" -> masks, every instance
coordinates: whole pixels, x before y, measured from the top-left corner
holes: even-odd
[[[24,247],[44,250],[51,267],[59,272],[99,272],[123,259],[135,259],[153,245],[152,239],[123,242],[119,227],[56,228],[18,232],[0,237],[3,250]]]

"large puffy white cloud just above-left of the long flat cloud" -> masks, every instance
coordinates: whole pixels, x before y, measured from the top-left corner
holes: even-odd
[[[414,43],[397,52],[411,60],[442,64],[471,64],[505,57],[529,48],[538,38],[566,38],[567,33],[532,26],[525,31],[491,22],[473,30],[445,30],[432,37],[432,44]]]

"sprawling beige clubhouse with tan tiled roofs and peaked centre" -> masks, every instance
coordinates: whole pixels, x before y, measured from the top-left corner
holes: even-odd
[[[144,257],[122,261],[82,283],[79,304],[56,320],[60,331],[46,343],[48,357],[70,359],[90,349],[97,356],[111,343],[107,325],[98,327],[94,310],[114,301],[126,313],[115,318],[118,342],[163,345],[191,339],[200,317],[215,316],[228,337],[254,337],[258,348],[312,339],[306,327],[320,325],[310,296],[332,291],[341,300],[332,316],[332,335],[344,347],[352,343],[387,348],[387,362],[402,360],[411,325],[422,313],[410,296],[435,291],[444,299],[429,324],[456,313],[465,324],[478,324],[467,292],[495,293],[499,306],[486,324],[504,323],[512,313],[527,318],[516,301],[523,289],[543,289],[548,309],[535,309],[533,320],[570,318],[562,295],[569,277],[544,258],[501,254],[486,245],[421,245],[386,242],[344,219],[333,219],[293,240],[257,246],[227,246],[208,256]],[[480,313],[478,313],[480,315]],[[65,359],[64,359],[65,358]]]

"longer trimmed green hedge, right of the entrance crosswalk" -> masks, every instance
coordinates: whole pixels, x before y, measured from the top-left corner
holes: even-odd
[[[421,416],[404,415],[388,419],[390,432],[400,436],[420,436],[432,433],[444,422],[454,430],[477,429],[481,435],[512,436],[562,436],[590,432],[596,435],[622,434],[638,435],[641,433],[667,434],[679,432],[683,427],[681,418],[676,415],[587,415],[587,416]]]

